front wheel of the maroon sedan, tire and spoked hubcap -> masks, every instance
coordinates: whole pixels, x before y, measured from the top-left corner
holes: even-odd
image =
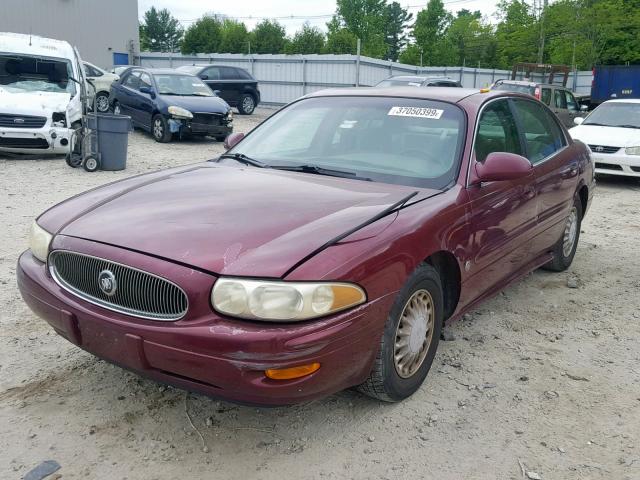
[[[430,310],[426,308],[428,304]],[[358,387],[362,393],[378,400],[398,402],[420,388],[440,341],[443,305],[438,272],[431,265],[420,265],[400,290],[391,308],[369,378]],[[416,318],[412,312],[418,315],[418,319],[425,320],[417,324],[421,326],[420,330],[408,323],[409,318]],[[421,339],[424,339],[422,344]],[[401,345],[403,342],[404,347]],[[404,352],[400,359],[405,360],[404,366],[402,361],[395,361],[398,352]]]

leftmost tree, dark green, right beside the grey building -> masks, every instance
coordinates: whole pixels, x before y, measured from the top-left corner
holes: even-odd
[[[184,33],[180,22],[169,10],[156,10],[151,7],[144,13],[144,20],[139,26],[140,49],[160,52],[175,52],[180,46]]]

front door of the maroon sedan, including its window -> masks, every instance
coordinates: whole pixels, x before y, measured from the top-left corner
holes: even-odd
[[[471,168],[492,152],[524,153],[507,99],[494,100],[482,111]],[[533,172],[517,180],[469,186],[468,194],[473,259],[467,290],[476,292],[477,298],[517,274],[530,260],[537,208]]]

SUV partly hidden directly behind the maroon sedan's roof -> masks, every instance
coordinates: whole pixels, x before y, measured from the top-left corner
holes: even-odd
[[[492,90],[510,91],[529,94],[547,105],[560,121],[570,128],[573,119],[580,116],[580,112],[587,110],[576,100],[574,94],[560,85],[540,84],[526,80],[498,80]]]

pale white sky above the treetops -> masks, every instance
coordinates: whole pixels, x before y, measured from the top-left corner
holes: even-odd
[[[415,15],[426,6],[427,2],[418,0],[396,0],[409,12]],[[460,9],[480,10],[490,17],[498,3],[496,0],[444,0],[448,10],[455,13]],[[205,13],[217,13],[243,21],[249,29],[263,18],[275,18],[293,35],[305,21],[326,31],[326,23],[331,20],[336,10],[335,0],[138,0],[138,13],[142,18],[144,12],[152,6],[157,9],[167,8],[183,26],[188,27],[193,21]],[[291,18],[294,17],[294,18]]]

